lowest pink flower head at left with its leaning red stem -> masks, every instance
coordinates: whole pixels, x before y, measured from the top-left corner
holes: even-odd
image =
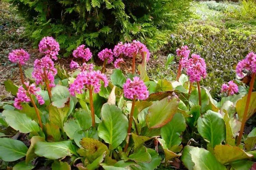
[[[35,109],[35,113],[37,114],[37,118],[38,118],[40,127],[43,129],[43,124],[42,124],[42,121],[41,121],[41,117],[40,117],[37,105],[35,104],[35,101],[32,97],[32,95],[35,96],[35,98],[38,100],[38,103],[40,105],[44,104],[43,97],[38,94],[38,92],[40,91],[40,88],[35,87],[34,83],[29,85],[29,82],[25,82],[24,85],[25,85],[26,89],[23,86],[19,87],[18,92],[17,92],[17,98],[14,99],[14,104],[13,105],[17,109],[23,109],[22,103],[31,102],[34,109]]]

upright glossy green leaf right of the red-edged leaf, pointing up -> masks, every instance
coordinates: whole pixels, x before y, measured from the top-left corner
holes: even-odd
[[[199,134],[210,142],[208,147],[214,148],[225,140],[225,123],[221,114],[209,110],[198,118],[197,125]]]

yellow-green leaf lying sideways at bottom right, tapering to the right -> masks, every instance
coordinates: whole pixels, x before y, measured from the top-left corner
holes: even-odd
[[[232,147],[230,145],[216,145],[214,148],[214,155],[222,164],[253,157],[253,155],[244,152],[241,148]]]

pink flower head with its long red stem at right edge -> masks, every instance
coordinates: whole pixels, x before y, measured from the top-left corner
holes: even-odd
[[[247,54],[246,57],[237,64],[236,72],[242,78],[244,77],[243,71],[251,72],[252,78],[250,81],[250,88],[248,91],[248,97],[246,100],[245,109],[243,113],[242,124],[240,128],[239,136],[237,139],[237,146],[240,144],[242,139],[244,125],[245,125],[246,117],[248,114],[248,107],[251,101],[251,96],[252,96],[252,91],[254,86],[254,80],[255,80],[255,74],[256,74],[256,54],[254,52],[250,52],[249,54]]]

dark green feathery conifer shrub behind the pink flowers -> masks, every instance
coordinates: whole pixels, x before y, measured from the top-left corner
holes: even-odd
[[[80,44],[94,49],[140,39],[154,51],[165,45],[170,30],[186,20],[191,0],[9,0],[25,16],[27,35],[37,46],[54,36],[69,56]]]

